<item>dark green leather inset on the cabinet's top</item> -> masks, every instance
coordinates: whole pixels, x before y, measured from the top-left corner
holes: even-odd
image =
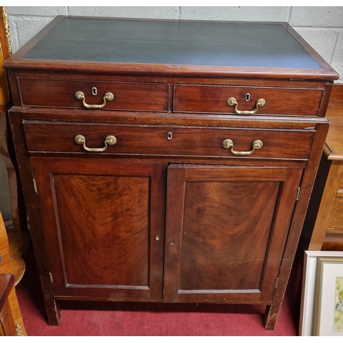
[[[320,69],[281,24],[66,17],[23,58]]]

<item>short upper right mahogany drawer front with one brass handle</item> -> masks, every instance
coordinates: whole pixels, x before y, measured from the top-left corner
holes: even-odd
[[[229,106],[229,98],[235,98],[237,106]],[[237,108],[256,110],[255,115],[316,116],[321,98],[321,89],[177,84],[174,112],[237,114]],[[259,99],[265,100],[264,106],[257,106]]]

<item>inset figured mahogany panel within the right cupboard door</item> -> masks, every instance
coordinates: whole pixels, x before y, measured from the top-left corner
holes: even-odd
[[[279,188],[187,182],[180,289],[259,289]]]

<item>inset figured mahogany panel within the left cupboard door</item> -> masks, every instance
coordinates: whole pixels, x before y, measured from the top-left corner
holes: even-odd
[[[67,283],[148,285],[149,181],[54,176]]]

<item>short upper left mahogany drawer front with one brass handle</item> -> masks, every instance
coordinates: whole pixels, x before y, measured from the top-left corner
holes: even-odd
[[[104,104],[106,93],[113,100],[106,101],[102,110],[167,111],[168,84],[139,82],[105,82],[84,80],[19,79],[23,106],[86,108],[75,93],[84,93],[86,105]]]

